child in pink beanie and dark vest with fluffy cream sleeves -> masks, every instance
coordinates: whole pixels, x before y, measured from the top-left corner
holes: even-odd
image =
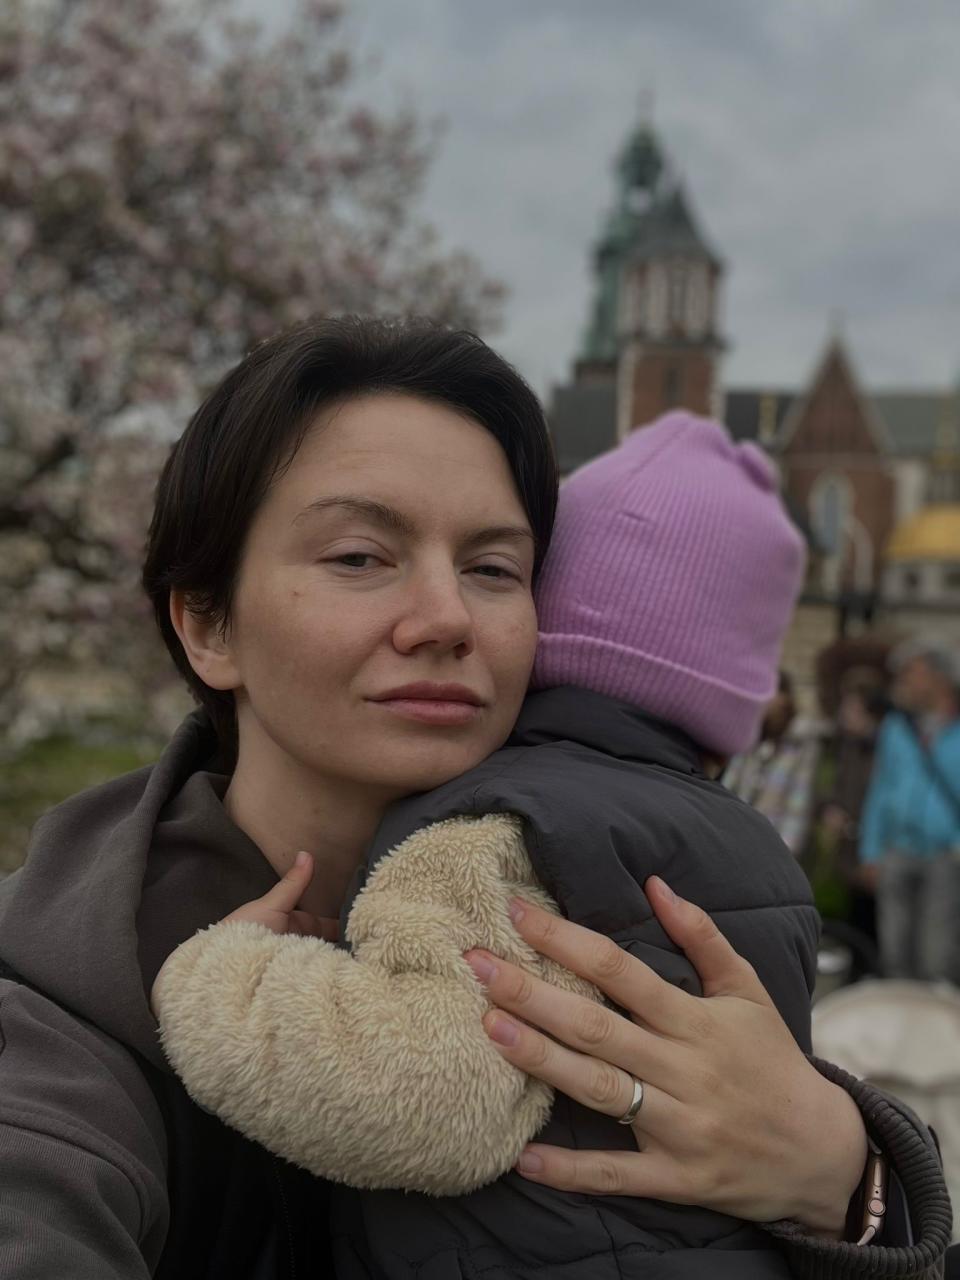
[[[511,740],[390,810],[344,906],[351,950],[227,920],[168,960],[154,1002],[193,1097],[367,1189],[335,1196],[338,1276],[680,1275],[657,1260],[689,1249],[710,1249],[696,1274],[787,1274],[764,1233],[719,1213],[509,1172],[535,1134],[635,1139],[500,1057],[463,952],[588,992],[513,931],[520,895],[699,991],[644,896],[655,873],[714,915],[809,1048],[806,882],[765,819],[713,781],[776,689],[803,563],[758,449],[682,412],[635,431],[561,490],[535,691]]]

